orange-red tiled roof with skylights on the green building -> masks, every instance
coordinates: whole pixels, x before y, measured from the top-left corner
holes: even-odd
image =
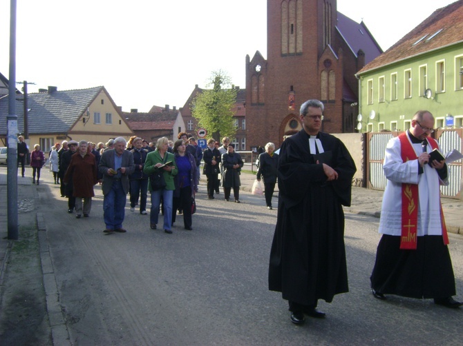
[[[463,42],[463,0],[439,8],[358,74]]]

